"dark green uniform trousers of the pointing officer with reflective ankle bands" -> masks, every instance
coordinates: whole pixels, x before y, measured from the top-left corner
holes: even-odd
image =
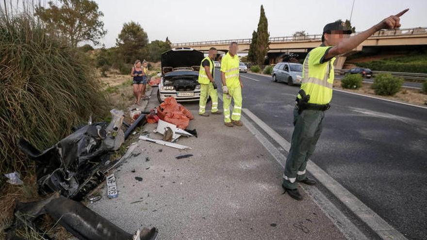
[[[296,181],[304,180],[307,161],[316,148],[317,140],[323,128],[325,112],[304,110],[298,114],[294,109],[294,133],[292,133],[291,149],[286,159],[283,174],[283,186],[296,189]]]

